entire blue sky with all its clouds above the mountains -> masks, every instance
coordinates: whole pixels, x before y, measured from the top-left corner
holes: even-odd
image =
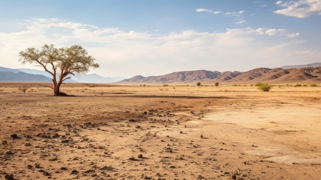
[[[321,0],[0,0],[0,66],[81,45],[108,77],[248,71],[321,62]],[[42,69],[39,69],[42,70]]]

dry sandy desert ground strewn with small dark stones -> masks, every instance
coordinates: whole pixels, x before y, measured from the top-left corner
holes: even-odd
[[[0,179],[321,178],[320,85],[24,84],[0,83]]]

